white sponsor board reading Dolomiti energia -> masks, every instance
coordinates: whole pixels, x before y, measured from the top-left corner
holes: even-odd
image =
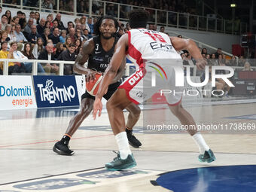
[[[0,110],[37,108],[31,76],[0,76]]]

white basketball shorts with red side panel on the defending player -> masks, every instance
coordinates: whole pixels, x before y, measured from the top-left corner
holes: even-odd
[[[182,64],[178,65],[182,66]],[[155,62],[146,62],[144,68],[139,68],[133,75],[126,78],[118,89],[126,90],[127,98],[136,105],[151,98],[157,92],[166,96],[169,105],[178,105],[184,91],[184,87],[175,86],[173,67],[162,67]]]

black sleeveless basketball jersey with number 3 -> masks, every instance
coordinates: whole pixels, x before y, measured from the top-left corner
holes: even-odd
[[[96,70],[97,72],[105,72],[105,69],[107,69],[109,62],[111,61],[111,58],[114,54],[114,46],[117,44],[118,38],[114,38],[114,44],[113,47],[111,47],[111,50],[108,50],[106,52],[102,48],[102,44],[100,41],[100,37],[96,36],[93,37],[95,48],[93,50],[93,53],[90,54],[88,59],[88,69]]]

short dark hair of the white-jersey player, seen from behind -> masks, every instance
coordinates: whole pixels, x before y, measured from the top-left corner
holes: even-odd
[[[148,23],[148,11],[143,9],[133,9],[128,14],[131,28],[146,28]]]

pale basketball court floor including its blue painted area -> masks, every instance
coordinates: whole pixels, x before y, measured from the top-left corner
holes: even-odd
[[[197,123],[228,126],[202,131],[217,157],[212,163],[197,160],[197,145],[184,131],[145,130],[146,116],[179,124],[166,105],[141,107],[134,133],[142,147],[131,147],[137,166],[116,172],[104,169],[117,151],[106,111],[84,120],[70,142],[71,157],[52,148],[78,108],[0,111],[0,192],[256,191],[255,99],[184,103]]]

